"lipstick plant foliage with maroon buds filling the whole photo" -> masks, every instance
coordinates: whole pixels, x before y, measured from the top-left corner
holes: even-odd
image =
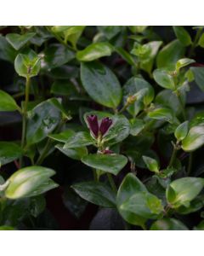
[[[0,29],[1,230],[204,229],[204,26]]]

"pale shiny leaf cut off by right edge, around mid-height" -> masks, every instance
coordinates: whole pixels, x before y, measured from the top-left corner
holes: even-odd
[[[190,152],[204,144],[204,126],[194,126],[182,141],[184,151]]]

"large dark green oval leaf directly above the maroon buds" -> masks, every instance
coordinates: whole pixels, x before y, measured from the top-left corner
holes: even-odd
[[[108,108],[116,108],[121,102],[121,85],[116,75],[103,64],[82,63],[81,79],[84,89],[95,102]]]

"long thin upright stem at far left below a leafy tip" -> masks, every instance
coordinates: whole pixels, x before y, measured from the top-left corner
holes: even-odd
[[[26,123],[27,123],[27,105],[29,102],[29,91],[31,79],[29,76],[26,77],[26,92],[25,92],[25,104],[23,106],[22,116],[22,137],[21,137],[21,148],[25,147],[26,144]],[[22,166],[23,157],[20,158],[20,167]]]

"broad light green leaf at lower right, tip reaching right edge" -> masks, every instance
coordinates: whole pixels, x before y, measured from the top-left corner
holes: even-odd
[[[201,192],[204,179],[201,177],[181,177],[170,183],[166,191],[167,201],[172,207],[188,206],[190,201]],[[174,195],[172,196],[171,190]]]

